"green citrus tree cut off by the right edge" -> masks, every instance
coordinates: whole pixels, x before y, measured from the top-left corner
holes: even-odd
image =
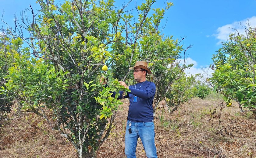
[[[247,109],[256,113],[255,44],[256,28],[245,28],[245,34],[237,31],[231,34],[212,58],[214,73],[209,83],[214,91],[224,95],[228,106],[232,105],[232,100],[236,101],[240,112]]]

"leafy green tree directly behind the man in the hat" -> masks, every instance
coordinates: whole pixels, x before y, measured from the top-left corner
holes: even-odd
[[[171,84],[193,64],[187,66],[177,64],[182,57],[181,53],[185,54],[191,46],[184,50],[179,46],[183,39],[173,40],[172,36],[164,36],[160,29],[161,19],[173,4],[167,2],[165,9],[152,9],[152,16],[148,16],[154,2],[148,0],[137,7],[138,21],[134,23],[131,23],[133,15],[127,14],[121,18],[123,25],[114,29],[115,35],[112,37],[114,42],[111,45],[113,58],[108,61],[115,72],[114,77],[122,81],[126,80],[129,84],[134,84],[134,80],[128,68],[136,61],[149,63],[148,66],[153,75],[148,76],[147,80],[156,84],[155,112],[160,101],[171,90]],[[117,39],[119,41],[116,41]]]

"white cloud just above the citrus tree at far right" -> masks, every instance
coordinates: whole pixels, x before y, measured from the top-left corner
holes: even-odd
[[[212,36],[215,36],[219,40],[217,44],[220,44],[221,42],[226,41],[231,33],[235,33],[234,29],[236,29],[236,31],[238,31],[239,33],[244,34],[245,32],[244,32],[243,26],[247,27],[248,24],[251,27],[255,27],[256,16],[253,16],[248,19],[244,19],[242,21],[236,21],[236,22],[233,22],[232,24],[221,26],[217,29],[217,34],[213,34]]]

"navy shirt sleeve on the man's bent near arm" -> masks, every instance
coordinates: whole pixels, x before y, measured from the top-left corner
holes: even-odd
[[[155,95],[155,84],[153,82],[150,82],[150,84],[145,87],[145,90],[139,90],[131,87],[129,87],[129,89],[131,94],[143,99],[147,99]]]

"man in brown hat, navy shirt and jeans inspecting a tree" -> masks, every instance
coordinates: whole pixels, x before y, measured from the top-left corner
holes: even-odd
[[[119,81],[131,91],[124,97],[130,98],[125,133],[125,155],[127,158],[136,158],[137,140],[140,138],[147,157],[157,158],[153,116],[155,84],[146,80],[146,75],[151,74],[147,62],[137,61],[130,69],[133,69],[133,77],[137,83],[128,87],[125,82]],[[123,91],[119,93],[119,98],[122,98]]]

